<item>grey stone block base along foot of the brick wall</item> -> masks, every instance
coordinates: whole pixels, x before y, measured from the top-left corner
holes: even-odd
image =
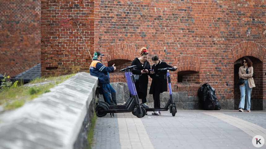
[[[116,90],[117,103],[124,104],[129,97],[127,83],[116,82],[116,83],[111,83],[111,85]],[[148,92],[149,92],[149,88],[148,88]],[[187,91],[187,90],[173,92],[173,100],[177,104],[178,109],[191,109],[191,110],[199,109],[199,97],[197,95],[188,96],[188,95],[191,95],[190,93],[191,91]],[[160,95],[161,107],[165,106],[169,98],[170,98],[169,92],[161,93]],[[99,100],[104,101],[102,95]],[[228,109],[228,110],[234,109],[234,99],[224,99],[224,100],[218,100],[218,101],[221,106],[221,109]],[[140,102],[141,102],[141,99],[140,99]],[[152,95],[150,94],[147,95],[147,105],[150,108],[154,107],[153,98],[152,98]]]

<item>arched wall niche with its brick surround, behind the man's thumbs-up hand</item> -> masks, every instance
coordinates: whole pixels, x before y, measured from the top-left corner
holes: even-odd
[[[108,66],[115,64],[117,70],[124,67],[123,64],[134,59],[136,47],[127,43],[116,43],[105,47]]]

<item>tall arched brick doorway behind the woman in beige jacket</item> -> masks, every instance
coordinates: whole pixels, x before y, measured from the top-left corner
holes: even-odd
[[[263,110],[263,59],[266,54],[265,47],[255,42],[241,42],[231,49],[234,59],[234,108],[238,109],[240,102],[240,90],[236,82],[239,79],[238,71],[243,57],[248,57],[253,63],[255,74],[255,88],[251,92],[251,110]]]

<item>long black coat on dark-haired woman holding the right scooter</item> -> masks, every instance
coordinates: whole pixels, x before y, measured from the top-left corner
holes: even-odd
[[[167,74],[166,70],[158,71],[158,69],[161,68],[168,68],[173,67],[169,66],[166,62],[159,61],[157,65],[152,65],[152,69],[154,70],[154,74],[150,74],[150,77],[152,78],[152,84],[150,87],[149,94],[154,94],[156,85],[160,85],[161,87],[161,93],[164,91],[167,91]]]

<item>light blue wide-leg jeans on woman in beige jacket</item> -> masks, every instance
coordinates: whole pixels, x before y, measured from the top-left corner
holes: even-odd
[[[250,110],[250,95],[252,88],[249,88],[248,81],[244,80],[244,86],[240,86],[241,100],[238,108],[244,109],[245,106],[245,97],[246,97],[246,109]]]

